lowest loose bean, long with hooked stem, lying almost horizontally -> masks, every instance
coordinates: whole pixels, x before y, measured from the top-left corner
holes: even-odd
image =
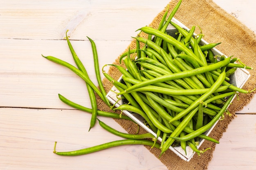
[[[54,153],[57,155],[63,155],[63,156],[78,156],[78,155],[86,155],[92,152],[97,152],[99,150],[104,150],[107,148],[115,147],[115,146],[122,146],[122,145],[148,145],[148,146],[153,146],[154,142],[149,141],[146,139],[123,139],[123,140],[118,140],[118,141],[112,141],[108,142],[106,144],[101,144],[97,146],[92,146],[90,148],[85,148],[81,150],[74,150],[70,152],[57,152],[56,151],[56,143],[54,145]],[[160,144],[156,143],[154,145],[155,148],[160,148]]]

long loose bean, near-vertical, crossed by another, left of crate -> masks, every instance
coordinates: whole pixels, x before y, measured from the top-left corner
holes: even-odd
[[[76,53],[73,49],[73,46],[72,46],[70,40],[68,39],[67,32],[66,32],[66,40],[67,40],[67,44],[70,48],[70,51],[72,53],[72,56],[74,58],[74,61],[76,63],[76,66],[79,68],[80,71],[82,71],[85,74],[85,76],[87,76],[89,78],[88,73],[87,73],[85,67],[83,66],[83,63],[81,62],[79,57],[76,55]],[[95,125],[96,118],[97,118],[97,101],[96,101],[96,97],[95,97],[93,88],[87,83],[86,83],[86,87],[88,90],[88,94],[89,94],[89,98],[90,98],[91,106],[92,106],[92,117],[91,117],[90,128],[89,128],[89,131],[90,131],[90,129]]]

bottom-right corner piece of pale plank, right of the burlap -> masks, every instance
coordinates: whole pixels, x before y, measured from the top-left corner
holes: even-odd
[[[255,170],[256,115],[237,115],[216,145],[208,170]]]

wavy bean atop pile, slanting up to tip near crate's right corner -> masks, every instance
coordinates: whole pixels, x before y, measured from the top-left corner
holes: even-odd
[[[182,118],[184,115],[188,114],[192,109],[194,109],[195,107],[197,107],[200,104],[199,103],[200,101],[204,101],[205,99],[207,99],[209,97],[209,95],[211,95],[214,91],[216,91],[216,89],[220,88],[220,85],[222,84],[222,82],[225,79],[225,75],[226,75],[226,72],[221,73],[220,77],[218,77],[218,79],[213,84],[213,86],[211,86],[209,91],[207,91],[201,97],[199,97],[197,100],[195,100],[195,102],[193,102],[193,104],[191,104],[188,108],[186,108],[186,110],[180,112],[178,115],[173,117],[173,119],[171,119],[170,122],[174,121],[174,120],[178,120],[178,119]]]

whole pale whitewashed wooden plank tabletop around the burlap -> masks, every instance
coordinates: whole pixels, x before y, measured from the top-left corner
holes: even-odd
[[[169,0],[1,0],[0,5],[0,169],[1,170],[166,170],[143,146],[120,146],[79,157],[58,150],[77,150],[121,139],[97,124],[88,132],[90,114],[74,110],[58,93],[90,107],[83,80],[43,55],[71,64],[63,40],[69,29],[74,49],[97,83],[90,42],[98,49],[100,67],[111,64]],[[254,0],[214,0],[256,31]],[[209,170],[256,168],[256,97],[229,124],[216,146]],[[114,120],[101,118],[124,130]]]

